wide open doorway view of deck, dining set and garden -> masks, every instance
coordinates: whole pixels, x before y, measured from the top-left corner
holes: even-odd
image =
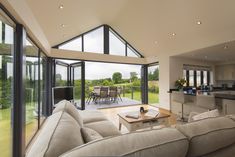
[[[86,109],[141,104],[140,65],[86,62],[85,68]],[[101,86],[117,87],[116,98],[100,98]]]

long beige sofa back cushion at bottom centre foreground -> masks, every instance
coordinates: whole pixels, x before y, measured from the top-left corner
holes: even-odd
[[[184,157],[188,140],[176,129],[148,130],[94,141],[74,148],[62,157],[146,156]]]

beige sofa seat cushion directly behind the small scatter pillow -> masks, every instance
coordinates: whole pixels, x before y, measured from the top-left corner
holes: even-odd
[[[84,126],[97,131],[103,137],[121,135],[120,131],[114,126],[114,124],[107,120],[87,123],[84,124]]]

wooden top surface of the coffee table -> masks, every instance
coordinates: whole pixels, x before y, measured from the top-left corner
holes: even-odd
[[[154,109],[149,109],[149,110],[154,110]],[[170,114],[162,113],[161,111],[158,111],[158,110],[154,110],[154,111],[159,112],[159,114],[155,117],[148,116],[147,113],[140,113],[140,111],[123,112],[123,113],[119,113],[118,116],[124,119],[125,121],[127,121],[128,123],[146,122],[146,121],[152,121],[152,120],[158,120],[161,118],[170,117]],[[134,119],[134,118],[126,117],[126,115],[129,115],[129,114],[139,114],[139,118]]]

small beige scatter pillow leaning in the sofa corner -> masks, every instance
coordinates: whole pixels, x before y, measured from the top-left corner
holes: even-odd
[[[93,129],[90,128],[81,128],[82,137],[85,143],[102,139],[103,137]]]

